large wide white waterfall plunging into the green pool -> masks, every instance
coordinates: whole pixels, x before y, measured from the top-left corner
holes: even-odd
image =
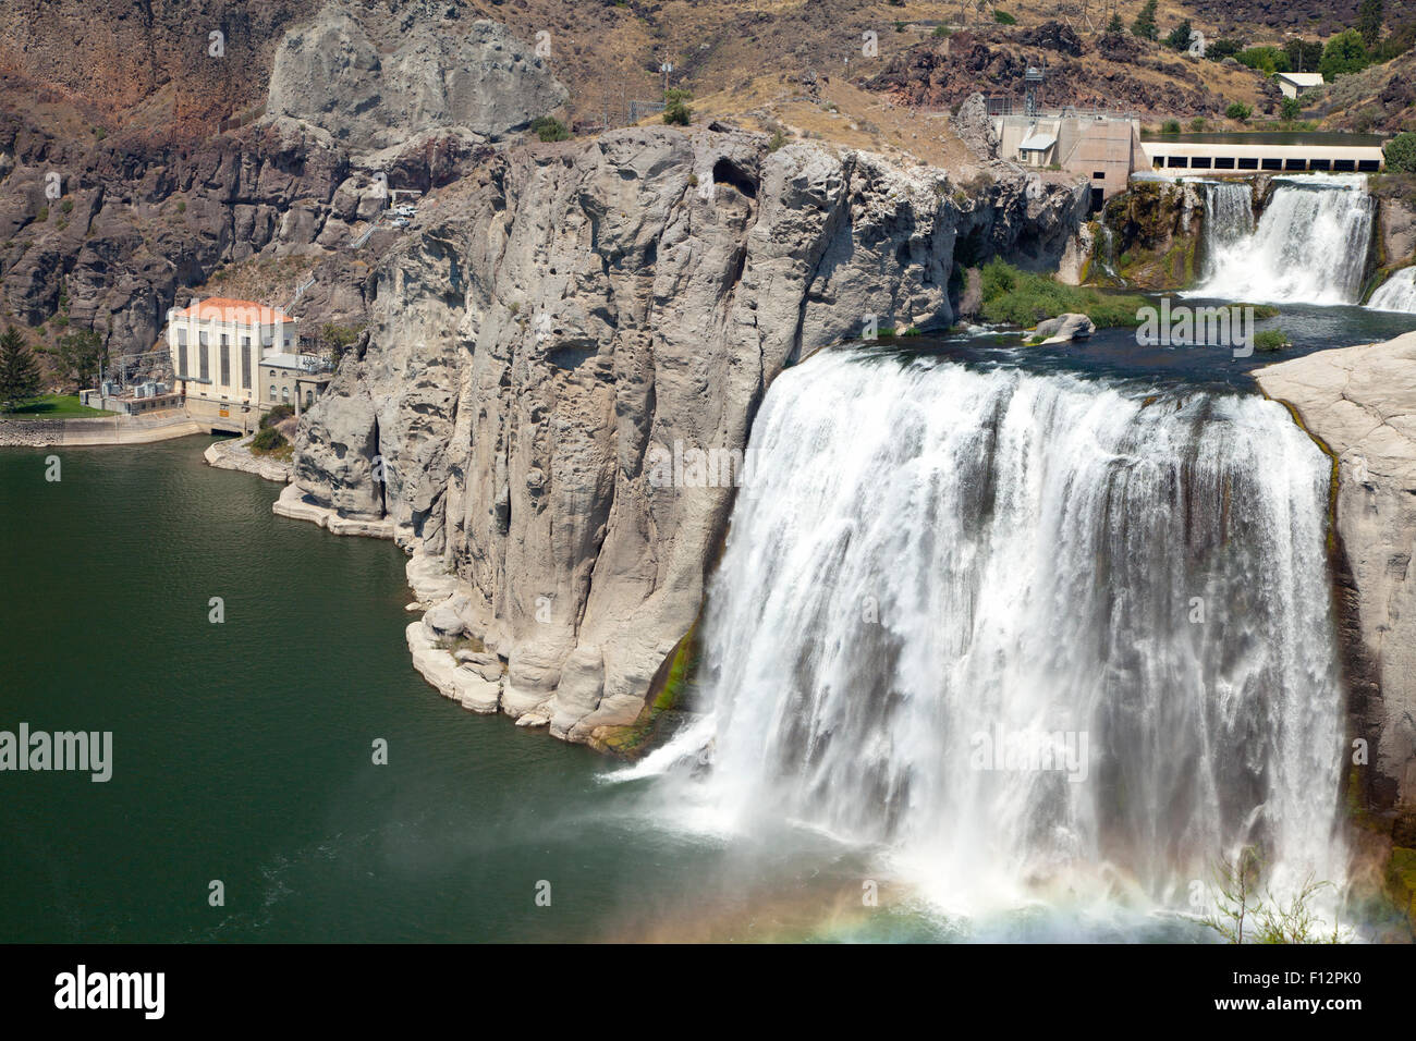
[[[964,914],[1187,908],[1249,843],[1276,891],[1341,884],[1328,462],[1280,405],[840,350],[752,448],[711,708],[634,770],[675,804],[882,850]]]

